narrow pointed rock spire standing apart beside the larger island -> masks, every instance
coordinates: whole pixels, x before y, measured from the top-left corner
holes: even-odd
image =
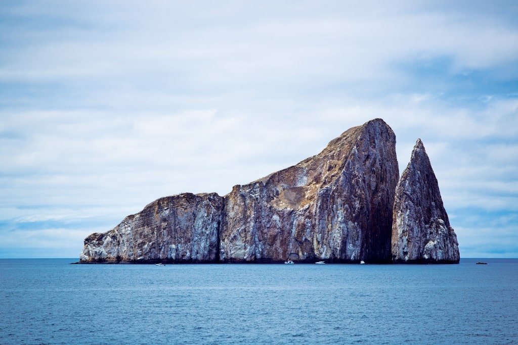
[[[457,235],[421,139],[397,185],[393,217],[394,262],[459,262]]]

